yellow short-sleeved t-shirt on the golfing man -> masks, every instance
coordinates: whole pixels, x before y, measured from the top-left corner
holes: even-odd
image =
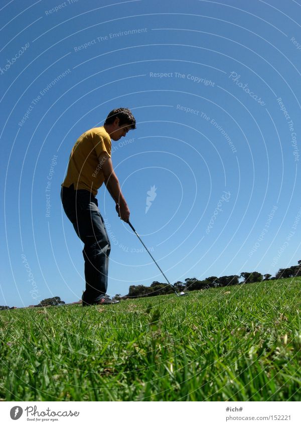
[[[72,148],[67,175],[61,186],[87,189],[94,197],[103,184],[104,176],[98,157],[106,152],[111,157],[111,138],[103,126],[85,131]]]

